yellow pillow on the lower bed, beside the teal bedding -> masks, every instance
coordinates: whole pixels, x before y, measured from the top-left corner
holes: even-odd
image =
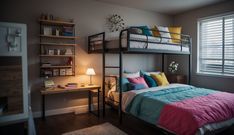
[[[169,84],[167,77],[163,72],[159,74],[150,74],[150,76],[157,82],[159,86],[166,86]]]

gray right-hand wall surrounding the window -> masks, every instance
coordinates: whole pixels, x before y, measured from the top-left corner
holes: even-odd
[[[190,12],[176,15],[174,17],[174,25],[182,26],[183,33],[189,34],[192,37],[193,47],[192,47],[192,84],[199,87],[212,88],[222,91],[234,92],[234,78],[224,78],[224,77],[211,77],[205,75],[196,74],[197,71],[197,19],[207,16],[212,16],[216,14],[222,14],[226,12],[234,11],[234,1],[228,1],[225,3],[212,5],[200,9],[196,9]],[[182,63],[180,67],[180,73],[186,73],[188,70],[188,58],[186,57],[169,57],[168,63],[170,61],[176,60]]]

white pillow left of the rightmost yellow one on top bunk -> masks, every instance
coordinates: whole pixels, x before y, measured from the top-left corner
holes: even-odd
[[[161,35],[161,42],[162,43],[171,43],[171,35],[169,33],[168,27],[157,26],[159,33]],[[168,39],[170,38],[170,39]]]

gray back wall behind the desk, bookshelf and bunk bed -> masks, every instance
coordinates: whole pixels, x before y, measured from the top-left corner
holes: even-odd
[[[54,16],[74,18],[76,32],[79,36],[76,56],[76,77],[58,78],[57,84],[67,82],[88,83],[84,75],[87,67],[93,67],[97,73],[94,83],[101,84],[102,57],[100,54],[87,54],[87,36],[106,31],[106,17],[117,13],[123,17],[127,25],[171,25],[172,17],[159,13],[126,8],[91,0],[3,0],[0,5],[0,21],[26,23],[28,26],[28,63],[29,84],[32,87],[32,109],[39,111],[40,93],[43,78],[39,77],[39,23],[41,13]],[[108,55],[109,63],[116,61],[114,55]],[[158,70],[160,57],[153,55],[125,55],[124,66],[128,71]],[[134,65],[134,66],[133,66]],[[51,95],[47,99],[46,108],[56,109],[87,103],[87,93]]]

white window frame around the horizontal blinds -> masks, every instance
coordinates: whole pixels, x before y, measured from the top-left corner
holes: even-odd
[[[223,32],[222,32],[222,48],[223,48],[223,53],[222,53],[222,66],[224,65],[224,55],[225,55],[225,52],[224,52],[224,42],[225,42],[225,25],[224,25],[224,18],[227,18],[227,17],[232,17],[234,16],[234,12],[228,12],[228,13],[223,13],[223,14],[218,14],[218,15],[213,15],[213,16],[208,16],[208,17],[203,17],[203,18],[199,18],[197,19],[197,60],[196,60],[196,74],[197,75],[202,75],[202,76],[210,76],[210,77],[223,77],[223,78],[234,78],[234,74],[227,74],[227,73],[211,73],[211,72],[201,72],[200,71],[200,48],[201,48],[201,23],[202,22],[205,22],[205,21],[209,21],[209,20],[215,20],[215,19],[220,19],[222,18],[223,20],[223,24],[222,24],[222,27],[223,27]]]

